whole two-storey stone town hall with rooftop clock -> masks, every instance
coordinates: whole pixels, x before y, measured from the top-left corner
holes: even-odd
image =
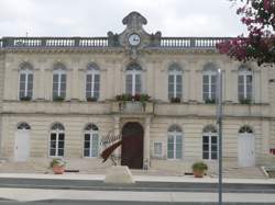
[[[68,169],[188,172],[218,166],[217,70],[226,168],[275,162],[275,69],[221,55],[226,37],[169,37],[131,12],[103,37],[0,38],[0,158]],[[109,138],[109,139],[108,139]],[[106,143],[107,141],[107,143]]]

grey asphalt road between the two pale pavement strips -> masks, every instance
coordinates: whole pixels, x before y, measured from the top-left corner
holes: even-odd
[[[135,184],[105,184],[91,180],[48,180],[0,178],[0,187],[88,190],[88,191],[139,191],[139,192],[217,192],[216,183],[191,182],[136,182]],[[275,184],[224,184],[223,193],[275,193]]]

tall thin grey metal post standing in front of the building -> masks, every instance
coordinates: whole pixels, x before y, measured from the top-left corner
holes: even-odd
[[[217,124],[219,126],[219,205],[222,205],[222,71],[218,69],[217,78]]]

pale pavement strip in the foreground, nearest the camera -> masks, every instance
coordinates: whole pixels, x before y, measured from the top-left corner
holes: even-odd
[[[119,191],[72,191],[72,190],[33,190],[0,189],[0,197],[19,202],[45,200],[72,201],[131,201],[131,202],[217,202],[216,193],[184,192],[119,192]],[[223,194],[223,202],[274,203],[274,194]]]

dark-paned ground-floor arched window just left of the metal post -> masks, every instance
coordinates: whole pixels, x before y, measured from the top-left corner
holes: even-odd
[[[202,130],[202,159],[218,159],[218,134],[213,125]]]

